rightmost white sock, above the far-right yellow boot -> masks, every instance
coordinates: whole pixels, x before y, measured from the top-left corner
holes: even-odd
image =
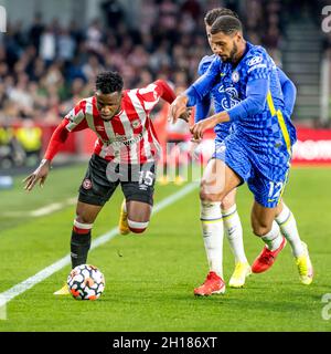
[[[281,233],[289,241],[293,256],[302,256],[305,253],[305,249],[298,232],[296,219],[285,204],[281,212],[276,218],[276,221],[279,225]]]

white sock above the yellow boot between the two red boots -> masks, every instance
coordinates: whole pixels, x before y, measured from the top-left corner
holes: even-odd
[[[222,217],[224,231],[235,257],[235,262],[247,263],[243,241],[243,227],[236,205],[226,210],[222,209]]]

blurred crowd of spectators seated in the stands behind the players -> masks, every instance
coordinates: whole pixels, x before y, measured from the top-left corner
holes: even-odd
[[[46,23],[40,13],[28,28],[8,23],[0,37],[0,149],[17,140],[25,150],[29,144],[36,150],[40,133],[31,122],[57,124],[76,102],[93,94],[95,76],[103,70],[120,72],[126,88],[156,79],[186,87],[196,77],[201,58],[211,53],[203,18],[212,8],[236,11],[245,37],[266,45],[279,64],[280,1],[247,0],[244,8],[238,3],[142,0],[132,19],[120,2],[106,0],[100,17],[88,25],[79,27],[76,20],[61,25],[56,18]],[[23,138],[9,128],[22,123]]]

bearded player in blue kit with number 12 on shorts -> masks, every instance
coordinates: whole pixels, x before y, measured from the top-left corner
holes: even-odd
[[[287,111],[277,67],[261,46],[244,40],[238,19],[222,15],[212,24],[210,33],[216,58],[170,110],[170,118],[175,121],[186,106],[203,101],[221,83],[218,93],[223,97],[220,95],[217,102],[222,103],[222,110],[195,123],[191,133],[199,140],[205,129],[231,122],[231,134],[225,139],[215,129],[215,153],[201,183],[201,220],[210,272],[205,282],[194,289],[194,294],[225,291],[222,249],[220,256],[220,235],[223,237],[224,230],[221,202],[245,181],[255,196],[253,231],[266,243],[253,263],[253,272],[269,269],[287,238],[300,280],[310,284],[312,266],[307,246],[299,238],[292,214],[281,201],[296,131],[290,122],[292,106]]]

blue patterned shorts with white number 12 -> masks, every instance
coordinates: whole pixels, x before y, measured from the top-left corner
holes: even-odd
[[[217,136],[212,158],[223,160],[243,183],[247,183],[259,205],[275,208],[288,180],[289,155],[287,152],[275,152],[273,160],[273,156],[256,153],[245,143],[247,142],[239,140],[234,135],[224,140]]]

